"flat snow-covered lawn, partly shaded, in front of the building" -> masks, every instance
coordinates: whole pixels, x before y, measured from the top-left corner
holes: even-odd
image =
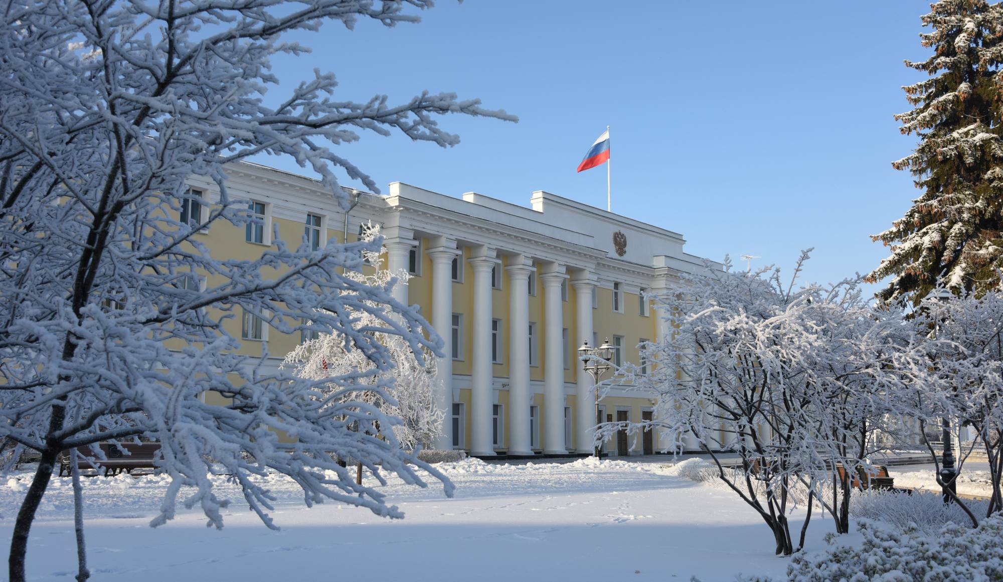
[[[279,532],[261,525],[222,478],[223,497],[234,502],[222,531],[206,528],[196,510],[149,528],[161,478],[85,479],[89,565],[97,580],[124,575],[143,582],[686,581],[691,575],[713,582],[739,572],[781,575],[788,563],[773,556],[768,529],[734,494],[676,477],[660,464],[469,459],[442,467],[456,484],[455,498],[444,498],[441,488],[391,482],[384,490],[406,512],[394,521],[334,504],[306,509],[290,481],[268,478],[278,497]],[[0,486],[4,548],[27,477]],[[816,515],[807,549],[824,546],[829,524]],[[69,480],[54,479],[32,528],[29,578],[71,579],[74,552]]]

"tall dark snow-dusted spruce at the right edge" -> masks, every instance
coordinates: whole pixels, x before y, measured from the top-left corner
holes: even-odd
[[[921,36],[934,54],[906,61],[931,78],[904,87],[915,108],[896,115],[916,150],[894,162],[923,194],[874,236],[892,254],[868,278],[892,280],[884,300],[914,304],[938,284],[983,293],[1003,266],[1003,4],[943,0]]]

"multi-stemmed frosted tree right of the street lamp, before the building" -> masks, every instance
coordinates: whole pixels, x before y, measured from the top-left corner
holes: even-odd
[[[926,363],[902,343],[901,322],[875,317],[854,281],[795,290],[806,259],[805,251],[789,283],[768,267],[682,275],[677,289],[655,298],[674,332],[642,346],[653,369],[627,366],[621,379],[657,395],[655,420],[629,429],[673,435],[676,450],[687,434],[695,438],[783,555],[803,545],[810,513],[796,546],[787,514],[804,491],[807,507],[817,500],[849,529],[849,484],[831,468],[853,475],[867,466],[874,433],[891,430],[883,399]],[[725,467],[722,452],[737,454],[740,466]]]

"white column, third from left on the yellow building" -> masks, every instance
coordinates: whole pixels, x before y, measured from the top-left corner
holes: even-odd
[[[491,443],[491,269],[498,260],[483,249],[468,260],[473,267],[473,362],[470,373],[470,455],[494,454]]]

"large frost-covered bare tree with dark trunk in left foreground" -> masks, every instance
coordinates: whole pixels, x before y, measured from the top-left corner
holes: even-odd
[[[375,245],[311,250],[276,231],[260,258],[241,260],[212,256],[195,233],[253,220],[247,202],[228,191],[227,163],[263,152],[292,156],[347,206],[333,166],[375,184],[331,145],[361,130],[397,129],[448,146],[458,138],[437,126],[437,114],[515,120],[452,94],[393,106],[380,96],[334,100],[334,76],[319,72],[284,97],[264,98],[277,83],[270,57],[305,50],[287,33],[325,21],[349,29],[359,19],[414,22],[407,9],[431,2],[0,5],[0,437],[40,457],[13,527],[10,580],[25,578],[30,526],[59,453],[103,441],[160,443],[158,470],[172,484],[152,525],[172,519],[183,495],[186,507],[199,506],[221,527],[225,502],[208,477],[221,470],[269,527],[271,497],[254,479],[266,472],[289,475],[307,504],[331,499],[401,517],[332,461],[351,457],[379,479],[389,473],[424,485],[416,460],[392,440],[349,430],[391,424],[384,414],[335,404],[337,394],[318,398],[330,393],[330,378],[275,372],[236,353],[245,316],[281,333],[339,334],[379,371],[392,357],[370,331],[400,335],[416,355],[436,349],[414,310],[342,274]],[[180,219],[198,201],[187,193],[192,175],[219,189],[200,223]],[[360,330],[351,314],[362,313],[377,325]],[[336,382],[356,390],[354,377]],[[206,395],[230,404],[207,405],[214,399]]]

